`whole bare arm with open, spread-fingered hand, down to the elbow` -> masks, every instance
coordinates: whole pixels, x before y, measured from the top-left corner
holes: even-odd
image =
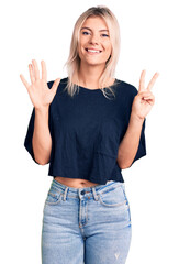
[[[34,120],[34,130],[33,139],[30,144],[30,148],[26,147],[29,152],[32,152],[34,158],[38,164],[47,164],[51,157],[52,150],[52,138],[48,129],[48,110],[49,105],[54,100],[60,78],[57,78],[53,86],[48,87],[47,84],[47,72],[45,62],[42,61],[42,78],[40,78],[40,70],[35,59],[32,59],[32,64],[29,64],[31,85],[26,81],[23,75],[20,75],[22,82],[27,89],[31,101],[35,108],[35,120]],[[31,124],[32,125],[32,124]],[[32,154],[32,153],[31,153]]]

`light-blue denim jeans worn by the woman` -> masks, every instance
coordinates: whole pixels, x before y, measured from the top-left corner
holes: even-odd
[[[42,228],[43,264],[124,264],[131,243],[124,183],[72,188],[53,179]]]

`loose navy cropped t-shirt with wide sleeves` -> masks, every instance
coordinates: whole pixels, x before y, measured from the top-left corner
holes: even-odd
[[[137,89],[115,79],[112,94],[104,97],[101,89],[79,87],[70,97],[64,88],[67,79],[60,80],[57,92],[49,105],[48,127],[52,136],[49,176],[88,179],[97,184],[108,180],[124,182],[116,162],[118,150],[131,116]],[[54,81],[48,81],[52,88]],[[32,136],[35,109],[33,108],[24,146],[35,163]],[[138,150],[133,163],[146,155],[145,121]]]

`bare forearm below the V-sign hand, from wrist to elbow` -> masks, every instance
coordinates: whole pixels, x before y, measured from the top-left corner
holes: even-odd
[[[127,168],[131,166],[141,139],[141,132],[143,128],[144,119],[141,119],[133,113],[130,117],[130,123],[125,135],[119,146],[118,151],[118,164],[121,168]]]

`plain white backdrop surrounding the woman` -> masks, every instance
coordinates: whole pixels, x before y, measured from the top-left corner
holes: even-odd
[[[121,29],[115,77],[138,89],[146,69],[156,103],[146,120],[147,155],[123,170],[133,237],[127,264],[179,263],[179,38],[178,6],[170,0],[16,0],[0,4],[0,263],[41,263],[43,206],[52,177],[23,143],[33,105],[20,74],[44,59],[47,80],[67,76],[72,29],[92,6],[104,4]],[[49,263],[51,264],[51,263]]]

